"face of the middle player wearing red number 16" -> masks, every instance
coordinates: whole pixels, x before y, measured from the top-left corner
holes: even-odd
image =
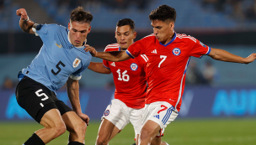
[[[136,38],[136,32],[133,32],[130,25],[116,27],[115,39],[121,49],[127,49],[133,44],[133,39]]]

